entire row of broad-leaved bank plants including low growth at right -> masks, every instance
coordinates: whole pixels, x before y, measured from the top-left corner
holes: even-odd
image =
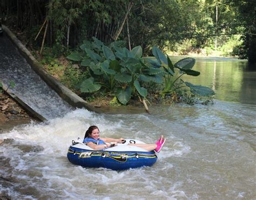
[[[154,58],[144,58],[141,46],[129,51],[125,41],[114,41],[106,46],[97,38],[84,40],[80,51],[68,55],[68,59],[77,63],[85,76],[76,85],[81,94],[107,95],[111,102],[126,105],[131,99],[139,99],[147,109],[147,97],[178,101],[184,97],[187,103],[204,98],[210,102],[214,91],[210,88],[184,82],[183,75],[199,76],[192,70],[195,60],[185,58],[173,65],[169,56],[154,46]],[[152,98],[151,98],[152,100]]]

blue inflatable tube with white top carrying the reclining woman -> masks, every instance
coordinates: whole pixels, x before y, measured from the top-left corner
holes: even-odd
[[[68,159],[71,163],[82,167],[104,167],[112,170],[125,170],[143,166],[152,166],[157,161],[154,151],[127,145],[129,143],[144,144],[139,140],[126,140],[125,144],[118,144],[102,151],[73,141],[69,147]]]

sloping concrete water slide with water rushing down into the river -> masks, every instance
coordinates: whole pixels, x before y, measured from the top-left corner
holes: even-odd
[[[99,112],[46,72],[16,36],[3,26],[0,82],[10,96],[40,120],[61,117],[75,108]],[[11,82],[15,87],[10,87]]]

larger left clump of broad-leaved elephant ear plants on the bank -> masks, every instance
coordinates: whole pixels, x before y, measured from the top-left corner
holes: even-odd
[[[145,103],[147,89],[143,83],[162,83],[164,71],[147,65],[140,46],[129,51],[123,47],[123,41],[105,46],[98,39],[93,40],[85,40],[80,46],[82,52],[68,56],[68,59],[80,61],[81,66],[89,69],[91,77],[79,84],[80,91],[95,92],[103,89],[112,92],[122,104],[129,102],[132,96],[142,97]]]

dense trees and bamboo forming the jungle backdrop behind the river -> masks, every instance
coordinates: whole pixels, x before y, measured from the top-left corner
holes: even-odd
[[[3,24],[59,52],[92,37],[105,44],[125,40],[130,49],[140,45],[145,55],[153,46],[186,54],[233,45],[230,55],[255,68],[254,0],[2,0],[0,6]]]

